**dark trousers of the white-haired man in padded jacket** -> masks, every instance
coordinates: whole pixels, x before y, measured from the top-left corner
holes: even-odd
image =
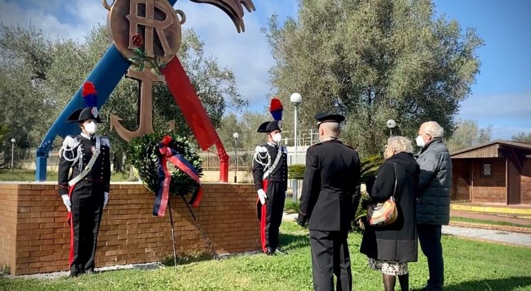
[[[417,225],[420,248],[428,259],[427,290],[443,290],[445,264],[443,262],[443,246],[440,244],[441,228],[441,225]]]

